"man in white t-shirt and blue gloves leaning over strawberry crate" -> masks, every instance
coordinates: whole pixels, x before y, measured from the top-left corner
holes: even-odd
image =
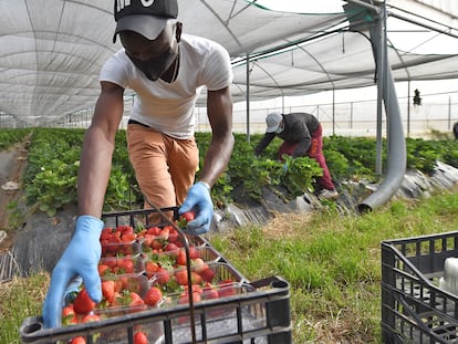
[[[209,230],[210,188],[228,165],[233,147],[232,82],[228,52],[204,38],[183,34],[177,0],[114,1],[113,40],[123,49],[101,71],[101,94],[83,143],[77,180],[79,216],[72,239],[54,267],[43,305],[45,327],[61,325],[64,294],[81,279],[94,302],[102,300],[97,263],[104,196],[123,117],[124,90],[136,93],[127,126],[129,160],[144,195],[157,207],[196,212],[187,232]],[[207,88],[212,137],[200,180],[194,107]],[[150,207],[149,207],[150,208]]]

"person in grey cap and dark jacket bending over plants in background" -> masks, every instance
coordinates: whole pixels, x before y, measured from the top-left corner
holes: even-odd
[[[323,176],[318,178],[318,197],[335,199],[339,194],[323,155],[322,127],[318,118],[306,113],[271,113],[266,117],[266,135],[254,148],[254,154],[260,155],[273,138],[279,136],[283,143],[279,148],[278,158],[283,160],[282,156],[287,154],[315,159],[323,169]]]

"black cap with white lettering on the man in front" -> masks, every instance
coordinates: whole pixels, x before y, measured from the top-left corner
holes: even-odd
[[[121,31],[134,31],[155,40],[168,20],[178,17],[177,0],[114,0],[116,30],[113,43]]]

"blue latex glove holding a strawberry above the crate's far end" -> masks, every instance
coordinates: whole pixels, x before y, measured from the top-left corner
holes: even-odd
[[[210,188],[202,181],[198,181],[189,188],[188,197],[178,213],[191,210],[195,210],[196,218],[188,222],[185,232],[192,236],[208,232],[214,217],[214,202],[211,201]]]

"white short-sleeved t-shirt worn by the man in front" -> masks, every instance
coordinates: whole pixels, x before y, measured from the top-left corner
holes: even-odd
[[[102,67],[100,80],[136,93],[131,118],[178,139],[194,136],[194,107],[204,86],[208,91],[227,87],[232,69],[225,48],[210,40],[184,34],[179,42],[177,79],[150,81],[126,55],[117,51]]]

